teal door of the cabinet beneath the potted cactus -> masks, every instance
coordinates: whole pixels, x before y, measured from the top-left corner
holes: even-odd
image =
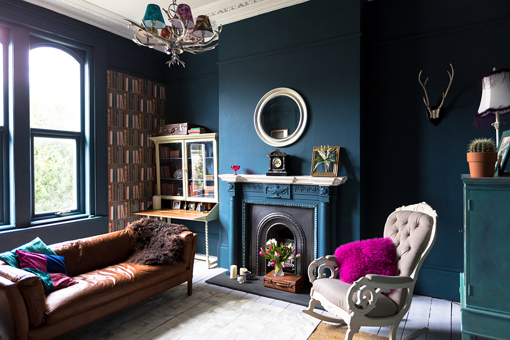
[[[508,190],[467,190],[466,302],[510,312],[510,199]]]

